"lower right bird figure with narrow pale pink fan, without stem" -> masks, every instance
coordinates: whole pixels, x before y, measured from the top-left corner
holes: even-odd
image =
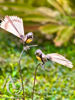
[[[36,54],[36,58],[42,61],[43,64],[45,64],[45,62],[47,61],[52,61],[67,66],[69,68],[73,67],[71,61],[69,61],[68,59],[66,59],[64,56],[60,54],[52,53],[52,54],[45,55],[40,49],[36,50],[35,54]]]

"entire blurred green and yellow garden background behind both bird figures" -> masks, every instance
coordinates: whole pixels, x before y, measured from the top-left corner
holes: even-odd
[[[45,54],[62,54],[75,65],[75,0],[0,0],[0,19],[6,15],[23,18],[25,34],[32,31],[32,44],[38,44],[24,52],[21,61],[26,100],[31,100],[37,48]],[[21,51],[20,40],[0,29],[0,100],[21,100],[10,99],[22,96],[22,91],[15,94],[20,89],[17,61]],[[11,93],[8,76],[17,87],[10,84]],[[46,63],[45,70],[38,69],[35,90],[34,100],[75,100],[75,68]]]

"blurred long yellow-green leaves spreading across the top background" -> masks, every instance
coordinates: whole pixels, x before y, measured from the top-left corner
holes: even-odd
[[[75,26],[75,16],[72,9],[73,2],[70,0],[41,0],[41,2],[39,0],[4,0],[0,3],[0,14],[1,17],[5,15],[20,16],[26,23],[26,29],[31,30],[31,23],[33,23],[32,31],[35,31],[35,29],[39,31],[40,29],[41,33],[43,32],[45,35],[50,36],[56,33],[57,39],[59,39],[58,33],[62,35],[63,31],[65,41],[68,42],[73,36]],[[35,28],[37,25],[38,27]],[[61,31],[62,26],[64,28],[70,26],[72,30],[68,34],[64,32],[64,28]],[[55,45],[57,44],[56,38],[52,38]],[[61,43],[61,40],[63,40],[62,36],[58,41],[60,45],[56,46],[65,44],[65,41]]]

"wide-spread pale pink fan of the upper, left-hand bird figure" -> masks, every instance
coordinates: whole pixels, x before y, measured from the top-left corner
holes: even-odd
[[[21,38],[24,36],[23,21],[17,16],[5,16],[0,27]]]

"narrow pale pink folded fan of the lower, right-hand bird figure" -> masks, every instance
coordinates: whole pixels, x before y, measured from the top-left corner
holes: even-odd
[[[49,59],[53,62],[62,64],[62,65],[67,66],[69,68],[73,67],[72,62],[60,54],[57,54],[57,53],[47,54],[46,57],[47,57],[47,59]]]

